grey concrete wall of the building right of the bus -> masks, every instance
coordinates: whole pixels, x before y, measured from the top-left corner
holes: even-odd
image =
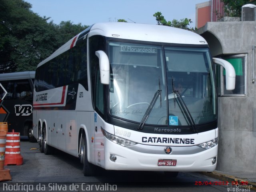
[[[247,55],[246,96],[218,98],[219,148],[216,169],[256,172],[256,82],[252,83],[252,46],[256,46],[256,22],[208,22],[196,32],[206,39],[214,57]],[[256,52],[254,71],[256,73]]]

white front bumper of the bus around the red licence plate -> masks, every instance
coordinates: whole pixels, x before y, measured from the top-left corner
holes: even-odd
[[[150,146],[151,147],[151,146]],[[154,146],[152,146],[154,147]],[[172,146],[171,146],[172,147]],[[198,147],[198,146],[196,146]],[[136,170],[136,171],[206,171],[216,168],[218,145],[194,154],[162,154],[138,152],[120,146],[105,138],[104,168],[106,170]],[[115,156],[116,160],[110,160]],[[215,158],[215,163],[213,163]],[[158,160],[176,160],[175,166],[158,166]]]

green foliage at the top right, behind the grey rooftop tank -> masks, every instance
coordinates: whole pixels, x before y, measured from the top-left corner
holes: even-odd
[[[226,16],[241,17],[242,6],[246,4],[256,5],[256,0],[222,0],[224,2],[224,12]]]

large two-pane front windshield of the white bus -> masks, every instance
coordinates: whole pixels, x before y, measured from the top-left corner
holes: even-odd
[[[216,120],[208,48],[112,41],[109,60],[110,115],[140,123],[146,114],[145,124],[164,126],[192,126],[188,113],[195,124]]]

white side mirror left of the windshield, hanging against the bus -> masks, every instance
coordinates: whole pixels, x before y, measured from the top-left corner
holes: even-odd
[[[108,56],[104,51],[96,51],[95,54],[99,58],[100,82],[102,84],[109,85],[110,64],[109,64]]]

